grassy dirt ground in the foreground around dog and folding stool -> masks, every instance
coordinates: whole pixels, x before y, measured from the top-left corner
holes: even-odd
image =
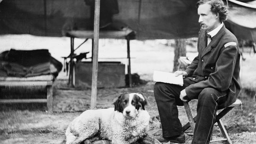
[[[149,133],[154,135],[161,134],[158,111],[153,95],[153,85],[154,82],[148,82],[146,85],[139,85],[133,88],[99,89],[100,97],[97,98],[97,108],[113,107],[112,103],[117,97],[113,93],[118,93],[119,95],[123,92],[141,92],[149,101],[146,106],[146,110],[152,117],[150,123],[151,131]],[[89,92],[90,90],[74,90],[73,93]],[[256,143],[256,124],[254,123],[256,105],[248,96],[240,99],[243,101],[243,110],[241,107],[234,108],[224,116],[223,123],[230,134],[233,144],[240,144],[241,142],[253,144]],[[196,115],[196,101],[190,101],[190,108],[192,109],[192,114]],[[182,124],[187,123],[188,119],[184,108],[179,106],[178,109]],[[0,143],[64,144],[64,133],[68,124],[82,112],[49,114],[45,110],[46,104],[2,105],[0,111]],[[192,140],[191,132],[188,131],[185,136],[185,144],[189,144]],[[212,137],[213,140],[222,138],[220,129],[217,126],[214,127]]]

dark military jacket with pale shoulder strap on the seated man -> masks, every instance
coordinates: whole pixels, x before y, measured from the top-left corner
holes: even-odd
[[[198,97],[204,88],[215,88],[227,93],[224,108],[236,101],[241,90],[240,51],[236,37],[223,25],[207,46],[206,31],[198,38],[198,56],[187,67],[188,78],[196,82],[185,88],[190,100]]]

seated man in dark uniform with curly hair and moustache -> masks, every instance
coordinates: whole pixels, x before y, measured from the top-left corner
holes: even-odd
[[[200,0],[197,11],[201,25],[198,56],[185,71],[174,72],[176,76],[183,75],[184,85],[161,82],[154,85],[162,124],[162,136],[157,137],[160,142],[185,142],[177,105],[198,99],[192,144],[208,144],[217,109],[234,103],[241,90],[240,51],[236,37],[223,24],[227,17],[224,3]]]

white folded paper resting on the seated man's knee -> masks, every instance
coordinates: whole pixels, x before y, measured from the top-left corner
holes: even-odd
[[[173,73],[169,72],[154,70],[153,80],[154,82],[164,82],[183,86],[183,76],[179,75],[175,77]]]

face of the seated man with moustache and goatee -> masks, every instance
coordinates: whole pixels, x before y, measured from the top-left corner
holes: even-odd
[[[197,13],[199,15],[198,22],[200,23],[201,28],[207,31],[212,31],[213,29],[217,28],[218,24],[220,23],[218,20],[218,15],[212,13],[211,7],[211,5],[205,3],[199,5],[197,9]]]

